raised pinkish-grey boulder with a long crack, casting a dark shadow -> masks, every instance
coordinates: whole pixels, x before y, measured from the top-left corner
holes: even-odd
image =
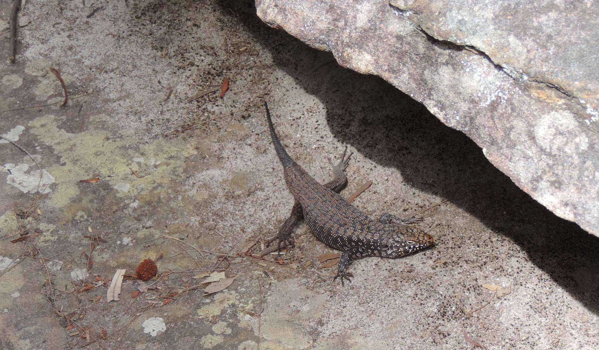
[[[556,215],[599,235],[592,2],[258,0],[258,16],[461,130]]]

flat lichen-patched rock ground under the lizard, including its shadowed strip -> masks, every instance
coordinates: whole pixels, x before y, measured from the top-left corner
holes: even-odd
[[[40,164],[43,194],[36,162],[0,141],[0,349],[599,349],[599,237],[383,79],[269,28],[253,0],[26,1],[19,26],[0,134]],[[225,77],[222,98],[187,102]],[[353,203],[422,213],[435,246],[358,260],[345,286],[305,225],[283,264],[238,255],[293,204],[263,99],[310,174],[328,180],[349,146],[342,194],[372,180]],[[108,301],[104,282],[147,258],[157,276]],[[235,279],[206,294],[212,273]],[[102,339],[81,347],[86,333]]]

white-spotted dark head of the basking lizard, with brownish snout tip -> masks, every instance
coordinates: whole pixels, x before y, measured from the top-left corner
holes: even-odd
[[[432,244],[432,236],[415,226],[400,226],[385,242],[383,258],[399,258]]]

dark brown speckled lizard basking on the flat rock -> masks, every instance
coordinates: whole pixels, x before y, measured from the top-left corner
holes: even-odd
[[[326,185],[317,182],[289,156],[274,129],[266,101],[264,107],[273,146],[283,165],[285,182],[295,198],[291,215],[277,233],[279,247],[291,237],[295,224],[304,219],[317,239],[342,252],[333,280],[340,278],[343,284],[343,280],[351,282],[353,274],[347,267],[356,258],[399,258],[432,244],[432,237],[413,225],[421,222],[422,216],[399,218],[383,213],[375,221],[341,197],[339,192],[347,184],[344,170],[351,156],[346,157],[347,147],[339,164],[333,165],[329,159],[334,179]]]

